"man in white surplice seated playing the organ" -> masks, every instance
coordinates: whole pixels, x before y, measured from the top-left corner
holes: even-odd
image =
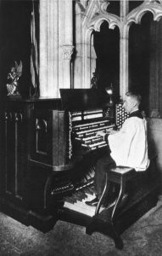
[[[143,174],[149,166],[147,122],[139,111],[141,96],[134,92],[126,93],[124,108],[130,113],[120,131],[105,133],[98,131],[98,136],[104,137],[110,149],[110,154],[99,159],[95,167],[94,189],[96,197],[87,201],[88,206],[96,207],[103,193],[105,173],[114,166],[129,166],[139,175]],[[107,201],[103,206],[107,206]]]

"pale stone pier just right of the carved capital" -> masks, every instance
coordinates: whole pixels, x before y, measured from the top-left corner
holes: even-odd
[[[96,67],[96,54],[93,47],[92,31],[89,32],[84,19],[90,19],[92,8],[87,12],[86,1],[75,3],[75,62],[74,62],[74,87],[90,88],[92,73]],[[86,18],[85,18],[86,17]]]

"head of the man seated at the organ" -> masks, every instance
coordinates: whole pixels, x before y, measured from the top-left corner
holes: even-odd
[[[126,92],[126,101],[123,105],[126,112],[131,113],[138,110],[141,102],[141,96],[138,93],[128,91]]]

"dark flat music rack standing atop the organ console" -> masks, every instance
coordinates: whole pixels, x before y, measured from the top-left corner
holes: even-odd
[[[109,102],[107,92],[98,89],[60,89],[60,96],[64,110],[69,111],[104,108]]]

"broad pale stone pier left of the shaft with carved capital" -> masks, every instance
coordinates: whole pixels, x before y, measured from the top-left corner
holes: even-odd
[[[40,96],[58,97],[58,0],[40,0]]]

